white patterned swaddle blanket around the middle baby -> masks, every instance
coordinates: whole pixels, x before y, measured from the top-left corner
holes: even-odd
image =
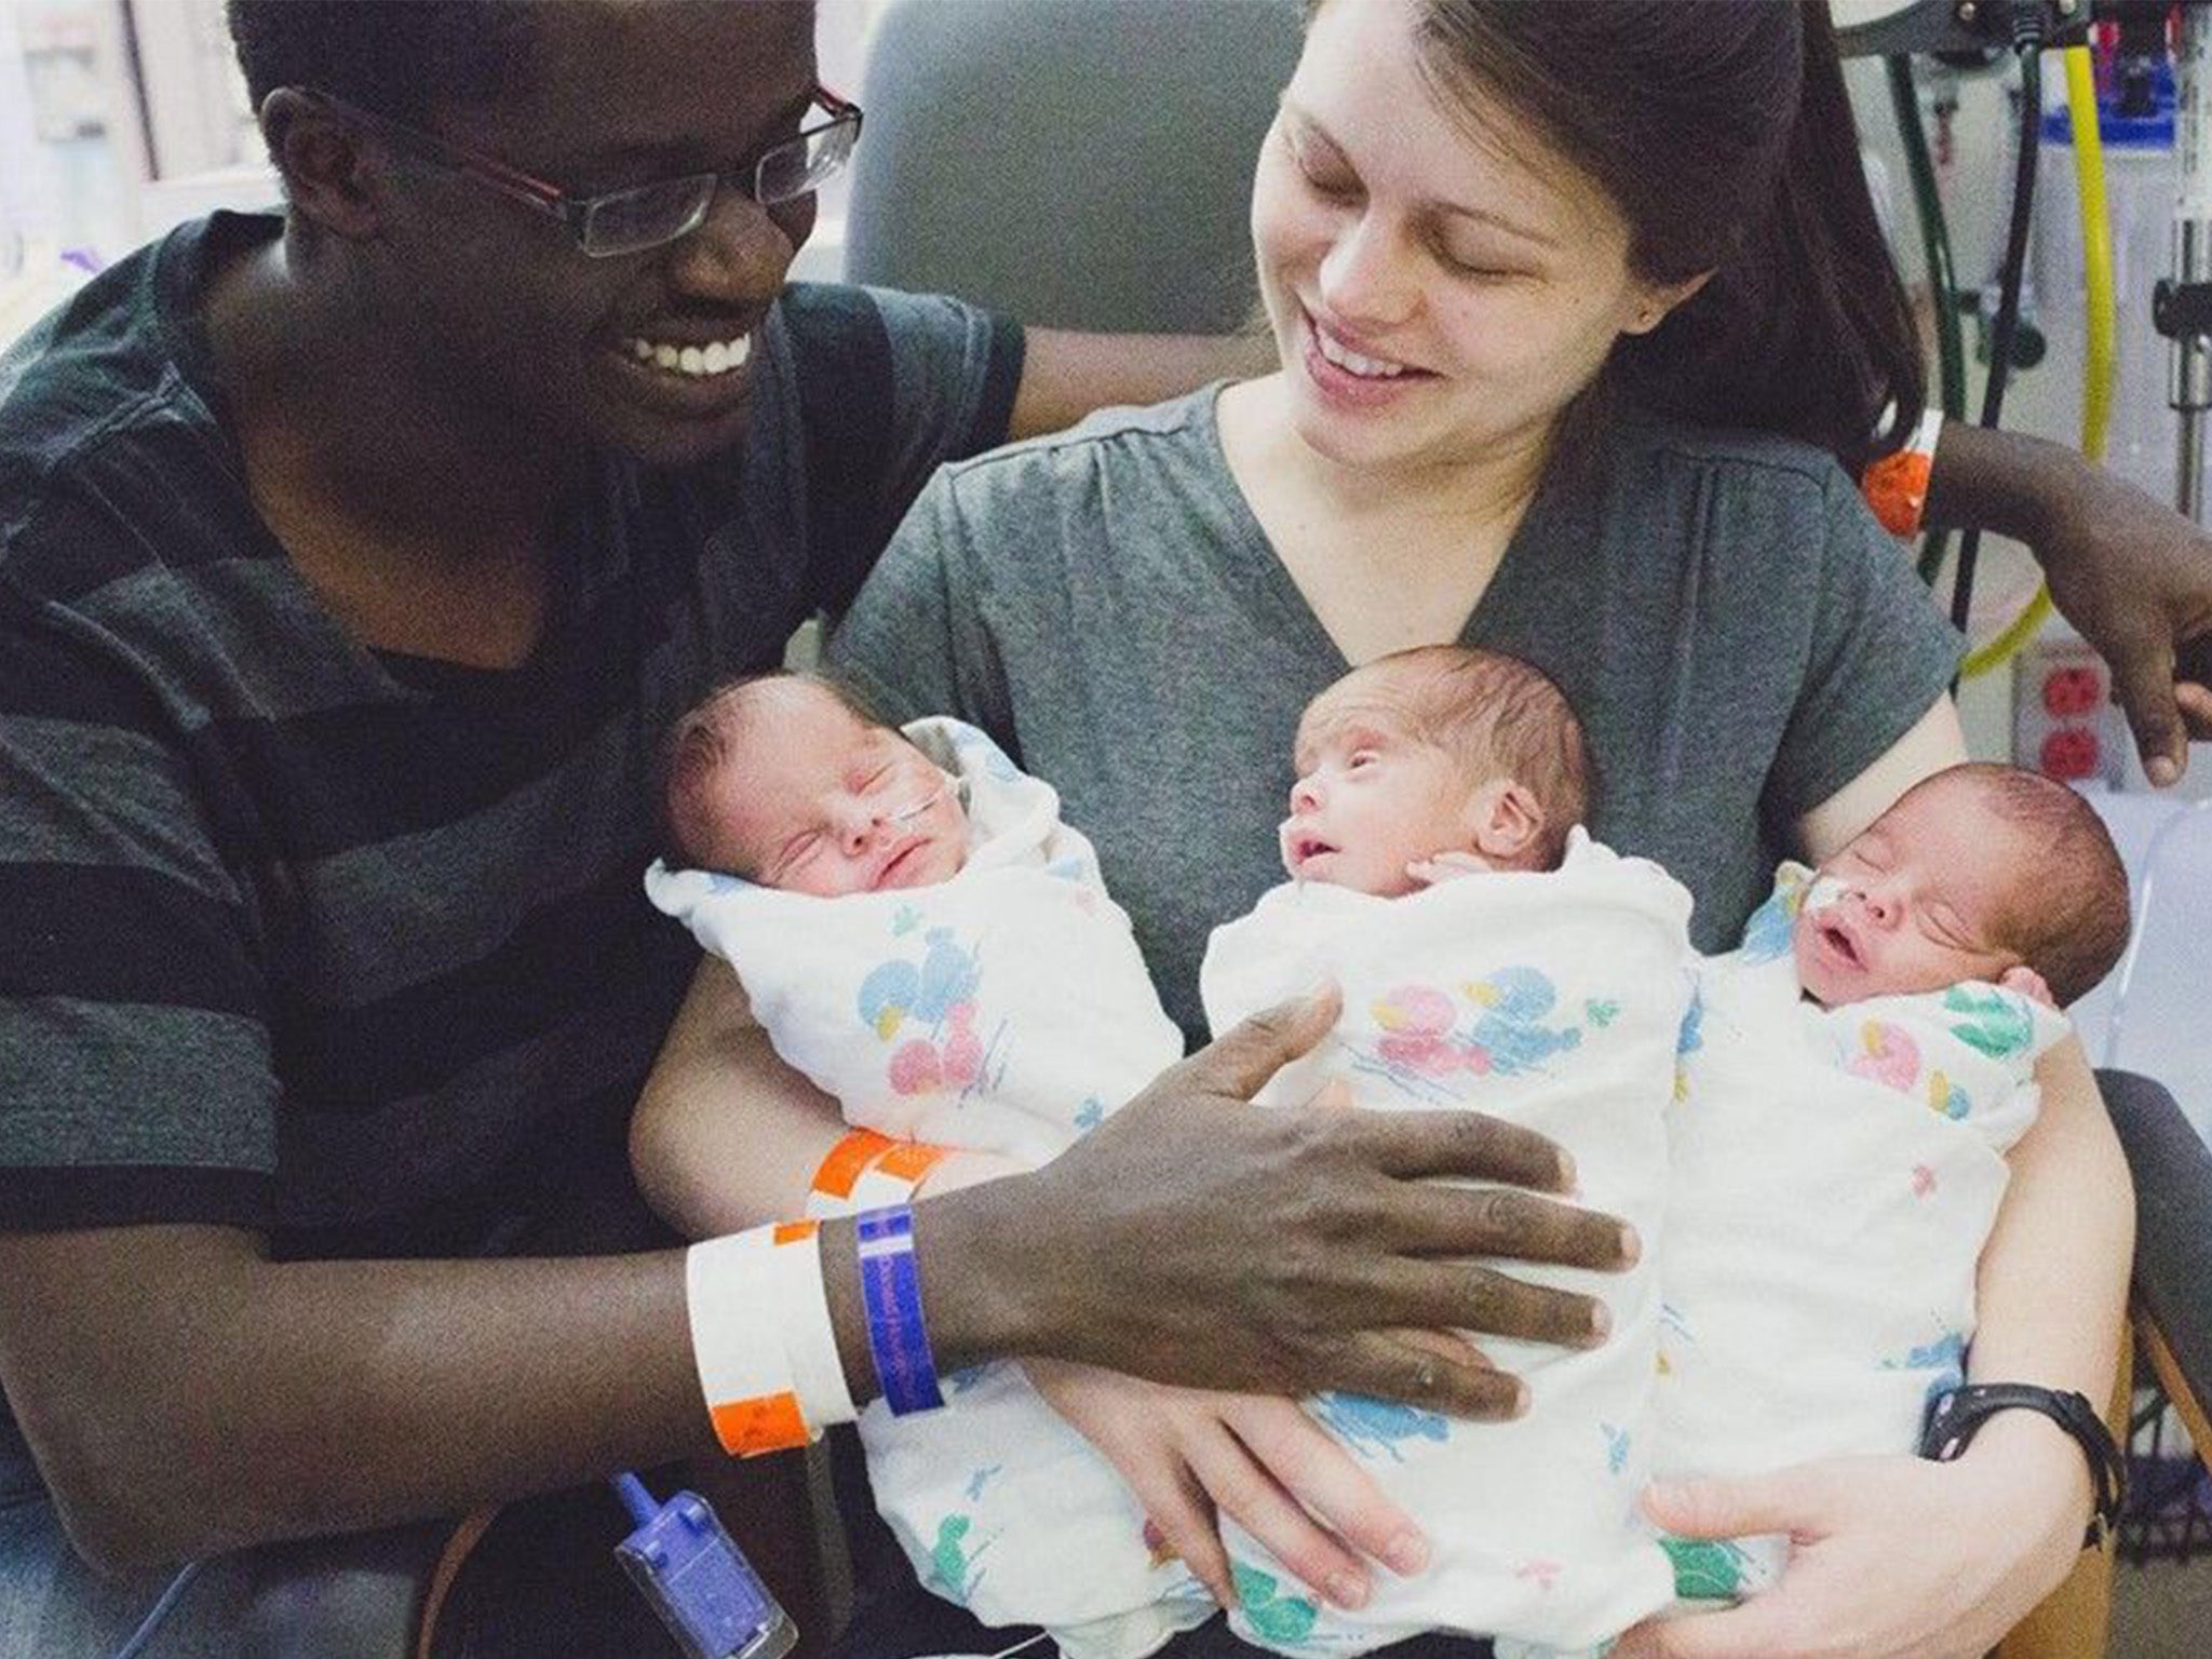
[[[1626,1274],[1511,1272],[1588,1292],[1613,1314],[1595,1349],[1484,1336],[1517,1371],[1517,1422],[1464,1422],[1360,1396],[1307,1402],[1433,1544],[1409,1579],[1378,1575],[1358,1613],[1325,1606],[1256,1540],[1225,1528],[1248,1641],[1360,1652],[1422,1630],[1584,1648],[1661,1608],[1672,1573],[1635,1517],[1659,1294],[1650,1265],[1666,1192],[1674,1048],[1690,1002],[1690,894],[1641,858],[1573,832],[1551,874],[1478,874],[1405,898],[1285,885],[1214,929],[1199,975],[1219,1033],[1329,975],[1336,1033],[1261,1099],[1310,1099],[1343,1077],[1363,1106],[1471,1106],[1575,1155],[1582,1201],[1632,1221]]]

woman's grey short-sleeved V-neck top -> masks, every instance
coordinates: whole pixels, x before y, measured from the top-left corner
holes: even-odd
[[[1214,396],[947,467],[832,641],[883,714],[969,719],[1060,790],[1192,1042],[1208,931],[1283,878],[1298,712],[1349,668],[1230,476]],[[1632,411],[1553,467],[1460,639],[1559,681],[1593,834],[1692,891],[1701,949],[1958,661],[1829,456]]]

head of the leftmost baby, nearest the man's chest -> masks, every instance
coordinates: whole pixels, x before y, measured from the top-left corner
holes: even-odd
[[[945,772],[825,679],[719,686],[668,732],[661,776],[672,867],[841,898],[929,887],[967,863]]]

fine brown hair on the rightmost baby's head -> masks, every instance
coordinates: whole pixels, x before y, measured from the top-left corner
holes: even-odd
[[[1933,787],[1973,790],[1984,812],[2035,841],[2033,889],[2022,883],[2002,942],[2044,975],[2059,1006],[2088,995],[2128,949],[2128,867],[2104,818],[2064,783],[1995,761],[1936,772],[1900,801]]]

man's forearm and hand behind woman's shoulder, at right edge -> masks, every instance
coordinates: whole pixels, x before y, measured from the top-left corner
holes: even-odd
[[[2152,783],[2179,779],[2188,739],[2212,737],[2212,535],[2073,449],[1962,420],[1936,445],[1927,518],[2026,542],[2112,666]]]

